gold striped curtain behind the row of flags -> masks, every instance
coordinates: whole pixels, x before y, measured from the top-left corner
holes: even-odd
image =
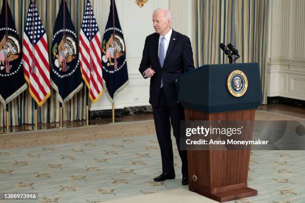
[[[69,12],[79,36],[81,20],[87,0],[66,0]],[[61,0],[36,0],[43,26],[48,38],[49,53],[52,44],[52,35],[55,19],[59,10]],[[15,21],[15,26],[22,43],[24,22],[30,0],[8,0],[8,4]],[[2,0],[0,2],[2,6]],[[3,19],[1,19],[3,20]],[[50,56],[50,54],[49,54]],[[51,61],[51,60],[49,60]],[[89,101],[90,104],[90,101]],[[80,120],[86,118],[85,106],[87,105],[87,89],[83,89],[76,94],[70,102],[64,104],[64,120]],[[28,89],[20,94],[16,99],[8,103],[9,125],[20,125],[23,123],[34,123],[34,100],[31,98]],[[59,102],[55,91],[51,89],[51,97],[41,107],[37,106],[38,122],[58,122]],[[6,125],[6,112],[0,107],[0,126]]]

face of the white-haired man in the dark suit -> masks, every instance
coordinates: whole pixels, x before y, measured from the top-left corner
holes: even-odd
[[[165,35],[169,31],[170,20],[166,20],[162,10],[152,15],[153,28],[157,34]]]

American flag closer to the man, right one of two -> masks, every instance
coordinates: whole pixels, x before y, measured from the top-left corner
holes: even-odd
[[[79,60],[82,77],[89,89],[91,101],[103,94],[101,34],[93,14],[91,0],[87,0],[79,43]]]

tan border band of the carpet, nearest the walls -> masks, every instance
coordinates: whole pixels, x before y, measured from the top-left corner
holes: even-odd
[[[293,117],[256,111],[256,120],[296,120]],[[76,128],[15,132],[0,135],[0,150],[15,147],[44,146],[72,142],[95,141],[111,137],[130,137],[155,134],[152,120],[92,125]],[[22,135],[22,136],[20,136]]]

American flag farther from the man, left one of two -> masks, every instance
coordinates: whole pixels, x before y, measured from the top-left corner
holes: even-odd
[[[41,106],[51,95],[47,37],[34,0],[30,1],[23,33],[22,64],[33,99]]]

